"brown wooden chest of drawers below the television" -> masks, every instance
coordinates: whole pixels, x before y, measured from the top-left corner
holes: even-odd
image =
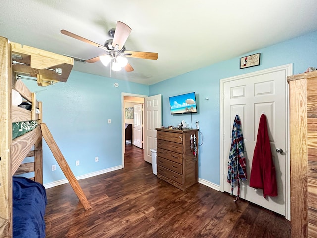
[[[185,191],[198,182],[198,130],[156,130],[157,176]]]

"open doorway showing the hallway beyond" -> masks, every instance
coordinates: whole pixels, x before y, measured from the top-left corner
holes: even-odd
[[[124,167],[124,154],[126,144],[144,149],[144,120],[143,106],[145,95],[122,93],[122,166]]]

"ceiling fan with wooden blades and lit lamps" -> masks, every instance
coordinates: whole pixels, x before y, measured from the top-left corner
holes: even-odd
[[[106,54],[85,60],[85,62],[95,63],[100,60],[105,66],[107,66],[109,63],[112,63],[111,69],[113,71],[120,71],[122,68],[124,68],[127,72],[132,72],[134,70],[132,66],[128,63],[128,59],[126,57],[150,60],[157,60],[159,57],[159,54],[154,52],[126,50],[124,44],[128,39],[128,36],[130,35],[131,28],[121,21],[117,21],[115,29],[109,30],[109,35],[113,37],[113,39],[107,40],[104,45],[100,45],[66,30],[61,30],[60,32],[66,36],[70,36],[72,38],[105,50]]]

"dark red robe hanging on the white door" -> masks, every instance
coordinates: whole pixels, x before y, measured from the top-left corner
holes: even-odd
[[[260,117],[257,143],[253,153],[250,187],[263,189],[264,198],[266,195],[277,196],[276,172],[272,159],[265,114],[262,114]]]

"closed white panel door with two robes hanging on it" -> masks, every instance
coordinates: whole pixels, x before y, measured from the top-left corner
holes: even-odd
[[[289,68],[290,67],[290,68]],[[288,156],[287,152],[287,82],[286,77],[291,75],[292,66],[274,68],[259,71],[258,73],[241,75],[222,80],[222,168],[223,168],[223,190],[231,191],[230,184],[226,181],[228,173],[228,158],[231,145],[231,132],[233,121],[239,115],[242,122],[244,137],[244,150],[247,162],[248,180],[240,183],[240,196],[250,202],[258,204],[269,210],[286,215],[288,204]],[[249,187],[250,171],[252,167],[253,151],[255,148],[258,126],[261,114],[267,118],[268,133],[270,138],[271,152],[276,168],[276,179],[278,186],[277,197],[263,197],[262,189],[255,190]],[[283,153],[276,152],[281,148]],[[235,188],[235,193],[237,188]],[[234,199],[234,198],[233,198]]]

